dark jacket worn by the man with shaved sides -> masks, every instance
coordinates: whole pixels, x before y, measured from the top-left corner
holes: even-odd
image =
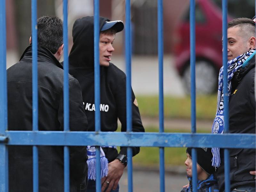
[[[229,97],[229,132],[255,134],[254,74],[255,57],[245,68],[240,68],[232,78],[232,92]],[[220,149],[220,167],[217,180],[220,192],[224,191],[224,155]],[[230,187],[255,185],[255,149],[230,149]]]

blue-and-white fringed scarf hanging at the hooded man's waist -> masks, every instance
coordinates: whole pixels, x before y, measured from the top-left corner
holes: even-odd
[[[115,146],[102,146],[105,148],[116,148]],[[105,156],[104,151],[100,147],[100,178],[108,175],[108,159]],[[96,180],[96,147],[87,146],[87,165],[88,165],[88,180]]]

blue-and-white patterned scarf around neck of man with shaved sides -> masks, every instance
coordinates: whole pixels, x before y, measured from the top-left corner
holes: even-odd
[[[248,61],[256,53],[255,49],[245,52],[244,54],[236,57],[233,60],[228,61],[228,100],[229,95],[232,90],[231,79],[234,76],[234,73],[240,68],[245,67],[248,64]],[[228,105],[226,105],[227,107]],[[212,133],[222,134],[224,131],[224,93],[223,93],[223,66],[220,68],[219,73],[219,86],[218,86],[218,99],[217,99],[217,111],[216,116],[212,124]],[[220,148],[212,148],[212,166],[217,168],[220,166]]]

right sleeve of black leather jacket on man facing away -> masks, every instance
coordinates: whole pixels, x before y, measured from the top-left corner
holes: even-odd
[[[62,94],[63,95],[63,94]],[[63,96],[58,118],[63,130]],[[69,130],[87,131],[88,122],[83,108],[82,92],[76,79],[69,80]],[[77,188],[86,185],[87,154],[85,146],[69,147],[70,180],[76,180]]]

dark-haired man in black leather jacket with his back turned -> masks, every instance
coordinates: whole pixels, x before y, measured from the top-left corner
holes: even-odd
[[[62,21],[43,16],[37,20],[38,130],[63,131]],[[7,70],[8,130],[32,131],[32,46]],[[87,131],[81,88],[69,76],[69,128]],[[70,147],[70,191],[86,191],[86,148]],[[63,192],[63,147],[38,146],[39,191]],[[9,146],[9,190],[33,191],[31,146]]]

